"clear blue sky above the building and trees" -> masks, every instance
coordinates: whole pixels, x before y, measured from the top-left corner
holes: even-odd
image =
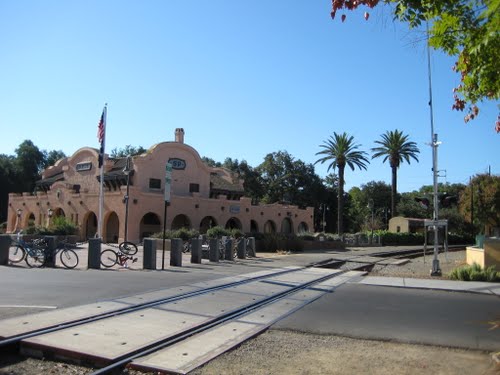
[[[334,132],[368,152],[398,129],[417,143],[398,191],[432,184],[426,44],[378,6],[330,18],[329,0],[0,0],[0,154],[31,140],[73,155],[173,141],[253,167],[273,152],[315,163]],[[500,174],[498,103],[451,110],[454,59],[431,53],[439,182]],[[325,177],[327,164],[316,164]],[[388,163],[346,170],[346,189],[391,182]]]

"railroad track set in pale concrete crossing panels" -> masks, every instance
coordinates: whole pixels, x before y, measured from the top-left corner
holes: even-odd
[[[66,318],[5,337],[0,347],[15,345],[25,354],[78,359],[102,367],[94,375],[115,372],[125,366],[186,373],[200,365],[200,358],[221,354],[221,350],[255,336],[275,321],[362,274],[313,267],[279,269],[80,319]],[[16,319],[17,325],[26,320],[21,317],[0,323],[12,325]],[[229,345],[231,333],[237,339],[229,339]],[[208,354],[196,353],[210,346],[206,343],[221,339]],[[172,353],[177,353],[177,357]],[[168,360],[158,360],[162,356]],[[174,357],[178,358],[175,368]],[[155,361],[160,362],[155,364]]]

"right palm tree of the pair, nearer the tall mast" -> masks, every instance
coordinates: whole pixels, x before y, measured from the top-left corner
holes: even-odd
[[[415,142],[409,141],[407,135],[399,130],[387,131],[381,135],[381,141],[375,141],[379,147],[372,148],[373,158],[384,157],[383,162],[389,160],[392,170],[391,184],[391,217],[396,216],[396,196],[398,194],[398,168],[402,161],[410,164],[410,159],[418,162],[417,154],[420,150]]]

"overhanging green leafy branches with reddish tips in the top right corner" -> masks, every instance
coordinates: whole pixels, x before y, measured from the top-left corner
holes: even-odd
[[[453,70],[460,74],[460,84],[453,90],[452,108],[467,107],[465,122],[478,115],[478,102],[500,98],[500,0],[334,0],[331,15],[379,3],[392,5],[394,18],[410,28],[428,21],[429,45],[457,58]],[[495,129],[500,132],[500,115]]]

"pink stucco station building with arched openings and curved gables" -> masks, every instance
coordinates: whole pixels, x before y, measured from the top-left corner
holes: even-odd
[[[140,241],[161,232],[164,215],[165,167],[173,166],[167,229],[193,228],[201,233],[220,225],[249,232],[297,233],[312,230],[313,208],[282,204],[254,205],[243,196],[243,182],[230,171],[207,166],[198,152],[184,143],[184,130],[175,141],[152,146],[130,160],[127,237]],[[125,237],[127,158],[107,158],[104,164],[103,240]],[[84,147],[42,173],[36,193],[9,194],[7,231],[30,223],[47,226],[64,215],[80,228],[80,240],[94,237],[99,212],[98,150]]]

